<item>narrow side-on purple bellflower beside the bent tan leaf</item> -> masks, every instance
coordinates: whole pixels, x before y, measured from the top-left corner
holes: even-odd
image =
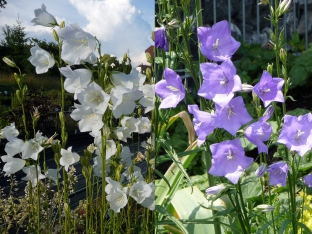
[[[206,137],[215,129],[213,126],[214,115],[200,111],[197,105],[189,105],[188,111],[194,115],[193,124],[197,134],[197,144],[201,146]]]

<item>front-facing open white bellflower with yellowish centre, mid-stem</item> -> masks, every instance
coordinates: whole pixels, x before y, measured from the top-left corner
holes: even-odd
[[[92,82],[77,94],[77,98],[82,105],[91,107],[96,114],[104,114],[110,96],[103,91],[101,86]]]

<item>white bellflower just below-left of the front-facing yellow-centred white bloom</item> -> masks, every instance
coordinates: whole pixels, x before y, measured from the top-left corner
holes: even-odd
[[[71,113],[70,117],[73,120],[79,121],[79,130],[81,132],[92,131],[96,135],[104,126],[102,116],[94,112],[92,108],[75,104],[76,109]]]

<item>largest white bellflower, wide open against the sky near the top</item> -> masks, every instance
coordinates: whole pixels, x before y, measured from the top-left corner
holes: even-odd
[[[63,39],[61,57],[69,65],[81,64],[81,60],[86,60],[96,49],[95,38],[78,24],[61,28],[57,33]]]

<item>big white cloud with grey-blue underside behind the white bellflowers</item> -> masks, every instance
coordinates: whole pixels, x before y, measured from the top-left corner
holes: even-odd
[[[151,25],[130,0],[69,0],[89,23],[83,29],[102,42],[102,52],[121,58],[130,52],[133,65],[146,63]]]

